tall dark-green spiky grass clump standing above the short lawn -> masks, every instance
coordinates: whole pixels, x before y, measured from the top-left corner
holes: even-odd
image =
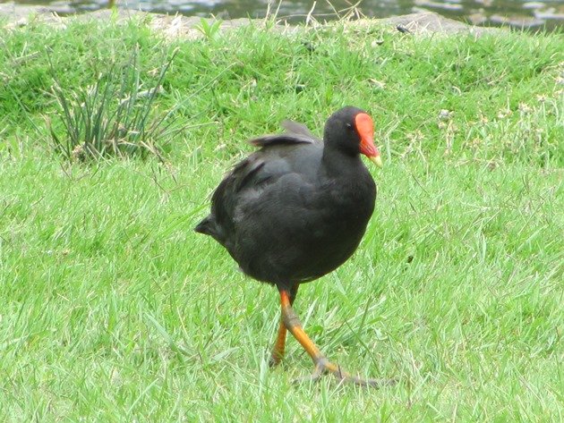
[[[124,63],[109,63],[93,85],[70,91],[62,86],[49,59],[63,126],[60,133],[47,118],[57,153],[71,161],[147,155],[162,159],[164,140],[175,135],[174,122],[167,122],[167,114],[151,112],[175,54],[157,71],[153,84],[142,79],[138,54],[135,49]]]

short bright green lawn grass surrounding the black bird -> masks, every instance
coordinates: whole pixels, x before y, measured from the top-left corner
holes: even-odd
[[[150,80],[178,47],[167,163],[62,162],[46,46],[70,91],[135,46]],[[0,30],[0,420],[562,421],[562,72],[559,34]],[[376,123],[377,207],[295,309],[330,359],[399,379],[380,390],[293,385],[312,369],[293,339],[269,369],[277,292],[192,232],[244,140],[346,104]]]

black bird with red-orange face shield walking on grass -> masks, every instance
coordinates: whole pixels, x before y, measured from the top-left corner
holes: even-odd
[[[249,142],[256,148],[236,164],[211,196],[211,210],[194,228],[211,236],[245,275],[274,285],[281,318],[269,363],[284,358],[289,331],[313,361],[310,379],[329,373],[340,383],[378,386],[329,361],[303,330],[293,308],[298,288],[352,256],[372,216],[376,184],[361,155],[381,167],[372,117],[355,106],[331,114],[322,140],[302,123]]]

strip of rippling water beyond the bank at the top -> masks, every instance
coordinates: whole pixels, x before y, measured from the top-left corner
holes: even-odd
[[[304,21],[312,11],[318,21],[336,19],[346,13],[346,0],[312,1],[283,0],[116,0],[119,7],[156,13],[181,13],[186,16],[221,18],[263,18],[267,11],[278,9],[278,18]],[[4,3],[4,0],[0,0]],[[93,11],[107,7],[107,0],[16,0],[16,4],[43,4],[61,14]],[[518,28],[553,30],[564,26],[564,0],[363,0],[358,5],[368,17],[385,18],[398,14],[432,11],[459,21],[478,25],[510,25]]]

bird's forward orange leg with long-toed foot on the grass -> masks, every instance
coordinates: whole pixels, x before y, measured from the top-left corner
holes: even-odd
[[[295,314],[294,309],[292,309],[293,300],[290,292],[287,292],[286,290],[280,290],[280,302],[282,305],[282,321],[284,322],[284,326],[286,326],[286,329],[294,335],[297,342],[303,346],[303,349],[307,351],[307,353],[313,360],[313,365],[315,366],[311,376],[311,379],[313,381],[318,380],[324,373],[331,373],[333,374],[333,376],[336,376],[339,381],[351,382],[355,385],[362,386],[378,387],[380,385],[390,385],[395,382],[393,380],[381,381],[376,379],[361,379],[358,376],[349,375],[338,365],[331,363],[325,358],[325,356],[323,356],[323,354],[321,354],[321,351],[319,348],[317,348],[317,345],[315,345],[310,337],[303,331],[302,323],[300,322],[299,317],[297,317],[297,315]],[[280,332],[281,329],[278,331],[278,336]],[[284,333],[284,337],[286,338],[286,332]]]

